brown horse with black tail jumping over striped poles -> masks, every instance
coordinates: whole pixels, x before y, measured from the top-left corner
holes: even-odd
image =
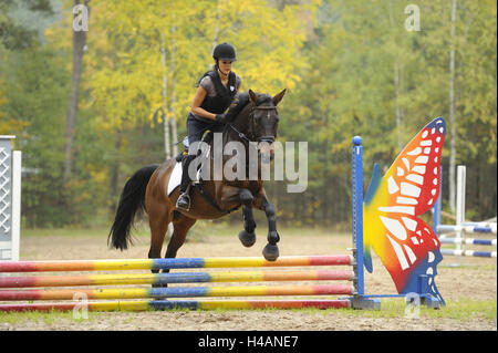
[[[168,181],[177,160],[172,158],[162,165],[143,167],[124,186],[108,237],[112,247],[121,250],[127,248],[135,217],[146,211],[151,227],[148,258],[160,258],[165,235],[172,221],[174,231],[165,258],[175,258],[187,237],[188,229],[197,219],[216,219],[242,206],[243,230],[239,233],[242,245],[251,247],[256,242],[256,222],[252,215],[252,207],[255,207],[263,210],[268,218],[268,245],[262,253],[269,261],[274,261],[279,257],[277,242],[280,237],[277,232],[276,211],[264,193],[260,160],[268,162],[268,158],[273,157],[273,142],[277,137],[279,122],[277,105],[286,94],[286,90],[273,97],[253,93],[251,90],[248,94],[249,103],[232,122],[227,123],[224,127],[222,145],[225,147],[229,142],[241,143],[246,147],[246,170],[250,170],[248,166],[249,145],[255,146],[258,143],[257,178],[249,178],[246,173],[243,179],[227,180],[224,173],[222,178],[215,179],[214,172],[210,172],[210,178],[205,178],[200,184],[190,188],[191,207],[188,211],[184,211],[175,207],[178,188],[169,196],[167,193]],[[210,142],[209,156],[211,158],[209,160],[211,166],[214,163],[212,144],[214,142]],[[224,155],[224,166],[228,159],[229,157]]]

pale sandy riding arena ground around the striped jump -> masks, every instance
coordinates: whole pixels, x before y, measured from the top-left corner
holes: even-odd
[[[349,253],[350,237],[299,235],[281,231],[280,253],[344,255]],[[311,233],[311,235],[309,235]],[[264,233],[259,232],[252,248],[243,248],[237,236],[204,236],[200,240],[184,245],[178,257],[260,256],[266,245]],[[21,242],[22,260],[111,259],[145,258],[148,238],[139,237],[127,251],[106,247],[103,236],[44,236],[25,237]],[[496,259],[466,258],[469,266],[447,267],[455,258],[446,258],[439,264],[436,283],[448,303],[461,300],[494,300],[497,298]],[[367,293],[394,293],[394,284],[377,258],[374,273],[365,274]],[[209,284],[209,283],[208,283]],[[176,284],[178,285],[178,284]],[[205,284],[203,284],[205,285]],[[216,285],[220,285],[216,283]],[[396,299],[400,300],[400,299]],[[388,305],[390,300],[382,300]],[[496,304],[495,304],[496,305]],[[382,310],[382,309],[381,309]],[[442,310],[447,310],[443,308]],[[31,318],[31,316],[30,316]],[[251,310],[251,311],[175,311],[175,312],[112,312],[90,313],[89,320],[61,316],[55,320],[27,319],[2,322],[0,331],[10,330],[166,330],[166,331],[226,331],[226,330],[291,330],[291,331],[496,331],[495,319],[478,312],[469,318],[407,318],[404,312],[388,316],[351,310]]]

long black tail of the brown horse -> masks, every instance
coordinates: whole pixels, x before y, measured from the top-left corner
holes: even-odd
[[[135,217],[142,215],[145,209],[145,190],[153,173],[159,167],[158,164],[143,167],[126,181],[117,205],[116,217],[107,238],[107,245],[124,250],[131,242],[131,230]]]

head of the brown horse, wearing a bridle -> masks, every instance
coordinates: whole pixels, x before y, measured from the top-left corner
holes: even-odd
[[[274,139],[279,124],[277,105],[283,98],[286,90],[271,97],[268,94],[257,94],[249,90],[251,102],[249,114],[249,135],[258,143],[259,153],[263,160],[273,159]]]

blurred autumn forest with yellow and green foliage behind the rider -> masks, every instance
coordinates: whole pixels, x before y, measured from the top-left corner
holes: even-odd
[[[437,116],[443,209],[461,164],[466,217],[496,216],[495,0],[1,0],[0,135],[23,152],[23,226],[108,225],[126,179],[178,152],[221,42],[241,91],[288,89],[278,141],[308,142],[307,190],[267,183],[279,221],[347,229],[352,136],[367,185]]]

